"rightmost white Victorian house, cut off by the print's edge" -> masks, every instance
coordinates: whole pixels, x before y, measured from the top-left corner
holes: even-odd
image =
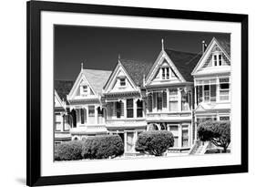
[[[230,120],[230,41],[213,37],[191,72],[195,92],[195,131],[205,120]]]

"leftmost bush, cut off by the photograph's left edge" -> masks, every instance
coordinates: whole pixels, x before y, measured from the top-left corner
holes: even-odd
[[[74,161],[82,159],[82,141],[72,140],[56,146],[56,161]]]

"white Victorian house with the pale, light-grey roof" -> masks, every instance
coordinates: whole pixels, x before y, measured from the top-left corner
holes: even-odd
[[[72,140],[107,134],[106,115],[103,108],[102,88],[111,71],[84,69],[83,64],[77,79],[67,95],[72,127]]]

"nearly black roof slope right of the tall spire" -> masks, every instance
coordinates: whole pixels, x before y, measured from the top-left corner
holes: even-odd
[[[186,81],[192,82],[193,77],[191,76],[191,72],[197,66],[201,54],[194,54],[171,49],[165,49],[165,52],[174,63],[175,67],[179,70],[181,76],[185,78]]]

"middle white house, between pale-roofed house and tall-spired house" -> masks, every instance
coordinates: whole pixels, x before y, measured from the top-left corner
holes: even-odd
[[[147,130],[144,80],[151,63],[120,59],[104,86],[107,129],[118,134],[124,151],[135,153],[138,134]]]

